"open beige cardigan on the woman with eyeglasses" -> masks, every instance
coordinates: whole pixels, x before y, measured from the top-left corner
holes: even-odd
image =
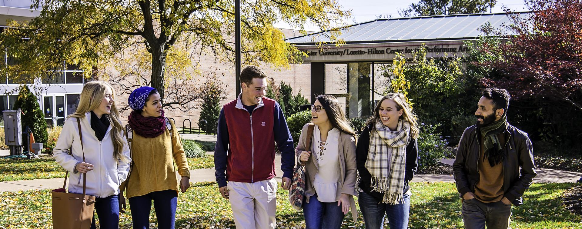
[[[297,159],[297,164],[299,164],[299,155],[301,151],[311,151],[311,149],[306,150],[307,141],[307,127],[309,125],[305,124],[303,130],[301,130],[301,136],[299,137],[299,144],[295,148],[295,158]],[[313,145],[313,142],[311,143]],[[356,203],[352,196],[357,196],[356,192],[356,138],[353,135],[339,132],[338,139],[339,147],[339,171],[326,171],[335,172],[340,174],[340,181],[338,184],[338,192],[335,196],[335,201],[339,201],[342,194],[350,195],[350,202],[352,202],[352,214],[354,220],[357,219]],[[313,180],[315,174],[318,172],[317,162],[315,162],[314,157],[310,156],[305,164],[305,197],[306,202],[309,203],[309,198],[315,195],[315,189],[313,188]]]

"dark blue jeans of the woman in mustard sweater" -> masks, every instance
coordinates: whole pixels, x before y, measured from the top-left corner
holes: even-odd
[[[155,216],[158,219],[158,228],[173,229],[176,220],[176,205],[178,205],[178,192],[176,190],[164,190],[150,192],[143,196],[129,198],[129,207],[132,210],[134,229],[150,228],[151,201],[154,201]]]

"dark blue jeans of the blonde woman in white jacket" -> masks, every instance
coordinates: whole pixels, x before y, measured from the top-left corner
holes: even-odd
[[[119,199],[118,195],[105,198],[95,198],[95,212],[99,219],[100,228],[119,228]],[[95,229],[95,214],[91,222],[91,229]]]

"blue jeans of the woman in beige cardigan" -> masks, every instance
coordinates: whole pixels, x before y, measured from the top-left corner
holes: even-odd
[[[320,202],[317,199],[317,194],[309,198],[309,203],[306,202],[306,199],[303,200],[303,214],[307,229],[342,227],[343,212],[342,206],[338,206],[338,202]]]

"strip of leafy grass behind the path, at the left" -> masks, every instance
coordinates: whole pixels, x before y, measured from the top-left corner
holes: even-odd
[[[214,167],[214,156],[204,155],[202,158],[188,158],[190,169],[205,169]],[[65,169],[52,157],[40,159],[0,159],[0,181],[17,181],[65,177]]]

